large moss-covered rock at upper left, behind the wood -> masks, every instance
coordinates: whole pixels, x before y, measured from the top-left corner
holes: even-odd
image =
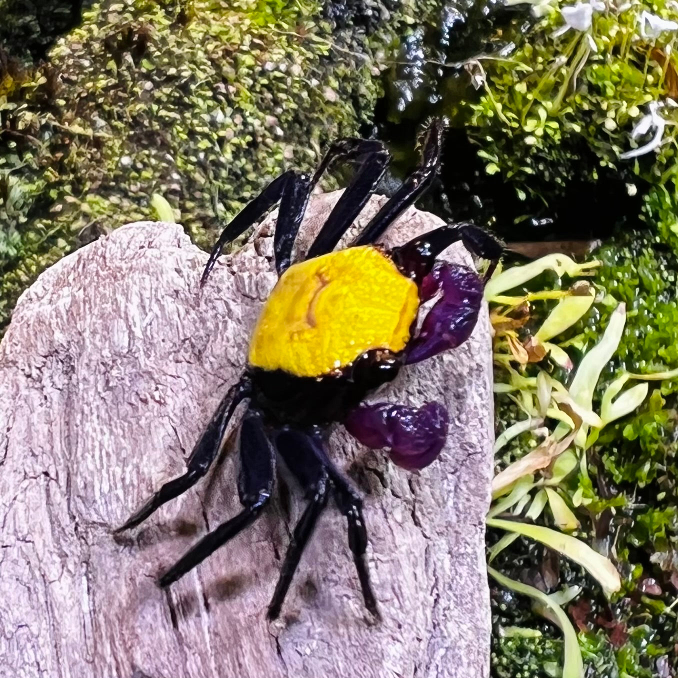
[[[349,4],[104,0],[46,64],[3,52],[0,327],[45,266],[152,216],[154,193],[204,246],[285,163],[370,123],[383,50],[438,3]],[[364,20],[330,20],[349,10]]]

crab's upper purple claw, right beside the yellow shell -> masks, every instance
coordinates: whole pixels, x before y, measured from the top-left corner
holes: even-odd
[[[418,363],[463,344],[478,319],[483,301],[483,282],[475,271],[438,263],[421,283],[421,296],[439,300],[424,318],[421,330],[407,346],[405,362]]]

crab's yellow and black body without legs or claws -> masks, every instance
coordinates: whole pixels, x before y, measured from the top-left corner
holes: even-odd
[[[343,420],[397,375],[419,303],[416,283],[381,247],[287,268],[250,340],[247,372],[262,410],[279,424]]]

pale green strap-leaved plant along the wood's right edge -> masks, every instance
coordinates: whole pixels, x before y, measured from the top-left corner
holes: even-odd
[[[518,536],[525,536],[584,567],[610,597],[622,589],[618,570],[609,557],[573,536],[580,528],[573,509],[591,504],[592,500],[584,498],[580,491],[572,494],[565,481],[575,473],[589,479],[586,454],[605,427],[641,407],[647,397],[648,380],[675,378],[678,370],[654,374],[620,370],[614,379],[599,384],[622,340],[626,304],[597,292],[589,281],[576,281],[565,290],[506,294],[534,281],[545,271],[558,277],[580,277],[592,275],[600,265],[599,261],[576,264],[555,254],[501,271],[487,284],[485,296],[490,302],[498,366],[495,391],[509,397],[523,415],[498,436],[495,453],[500,455],[507,445],[529,437],[526,443],[529,451],[521,452],[520,445],[514,446],[513,456],[517,458],[494,478],[487,525],[506,534],[492,546],[488,559],[492,563]],[[601,304],[612,307],[599,341],[587,348],[581,333],[562,340],[561,335],[582,321],[597,298]],[[554,301],[555,306],[549,306]],[[539,323],[533,322],[531,304],[543,306],[544,319]],[[584,353],[576,370],[566,351],[571,346],[578,346]],[[560,378],[554,376],[553,367]],[[594,407],[597,390],[601,395]],[[547,508],[554,527],[536,523],[543,519]],[[502,515],[511,519],[500,518]],[[558,604],[563,599],[569,602],[579,591],[568,588],[549,596],[507,578],[493,567],[489,572],[503,586],[534,599],[536,610],[559,626],[565,637],[563,678],[583,678],[584,661],[576,631]]]

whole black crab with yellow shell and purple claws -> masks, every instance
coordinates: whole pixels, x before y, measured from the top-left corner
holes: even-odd
[[[214,462],[235,410],[248,401],[239,441],[238,493],[243,510],[203,536],[160,577],[160,586],[176,582],[262,514],[273,495],[279,458],[303,488],[307,504],[285,553],[268,618],[279,616],[304,547],[330,498],[346,517],[348,546],[365,607],[378,617],[365,559],[363,502],[327,452],[327,429],[335,422],[344,424],[358,441],[386,448],[395,464],[410,470],[431,464],[445,443],[448,415],[439,403],[421,407],[363,403],[403,366],[455,348],[471,335],[484,280],[475,270],[437,262],[436,257],[456,241],[492,262],[502,254],[498,241],[470,223],[440,226],[391,250],[376,244],[435,178],[443,131],[441,121],[428,127],[418,167],[345,249],[335,247],[388,164],[388,152],[376,140],[334,142],[313,176],[284,172],[224,228],[201,285],[224,245],[243,235],[276,203],[273,250],[279,279],[254,327],[243,374],[207,423],[186,462],[186,473],[162,485],[117,532],[139,525],[193,487]],[[361,164],[304,260],[293,263],[308,197],[337,159]],[[419,307],[433,298],[437,300],[417,330]]]

